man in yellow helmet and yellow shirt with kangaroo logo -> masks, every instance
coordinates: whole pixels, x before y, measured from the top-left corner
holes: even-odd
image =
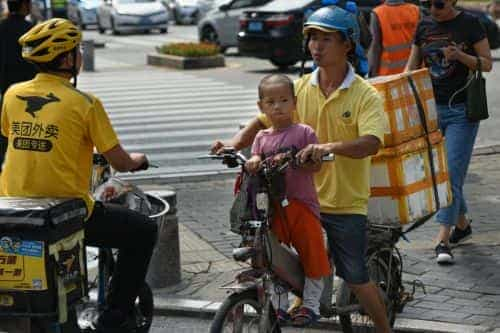
[[[147,168],[144,154],[120,145],[99,99],[76,89],[81,32],[65,19],[36,25],[21,36],[22,56],[39,74],[4,95],[1,130],[8,138],[2,196],[82,198],[88,206],[86,243],[120,250],[110,308],[101,332],[132,332],[129,316],[142,287],[157,228],[131,210],[94,202],[89,193],[94,147],[118,171]]]

